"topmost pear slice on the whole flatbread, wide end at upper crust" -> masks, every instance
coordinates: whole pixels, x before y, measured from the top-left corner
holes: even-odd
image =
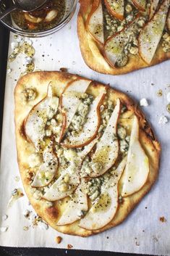
[[[61,128],[60,141],[67,131],[72,118],[75,116],[77,108],[80,105],[80,96],[85,93],[91,80],[77,79],[69,83],[60,97],[60,108],[63,115],[63,124]]]

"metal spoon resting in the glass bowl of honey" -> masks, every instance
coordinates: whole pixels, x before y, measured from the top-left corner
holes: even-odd
[[[9,15],[10,12],[13,12],[15,9],[20,9],[23,12],[33,12],[35,9],[38,9],[46,4],[47,0],[12,0],[13,5],[9,9],[5,10],[0,14],[0,20],[5,16]]]

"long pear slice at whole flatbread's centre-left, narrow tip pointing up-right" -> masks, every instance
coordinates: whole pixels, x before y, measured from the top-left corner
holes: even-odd
[[[64,197],[69,196],[72,194],[77,186],[80,183],[80,166],[82,165],[82,161],[85,156],[93,149],[93,146],[98,141],[98,136],[90,142],[82,152],[77,154],[77,157],[72,159],[70,162],[69,167],[66,170],[63,170],[61,176],[52,184],[52,186],[46,190],[46,194],[44,194],[43,198],[47,199],[48,201],[56,201],[62,199]],[[67,178],[68,182],[64,182],[64,178]],[[66,180],[66,181],[67,181]],[[62,183],[64,183],[64,190],[62,189]]]

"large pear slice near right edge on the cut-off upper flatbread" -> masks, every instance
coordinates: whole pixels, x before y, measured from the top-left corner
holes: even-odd
[[[142,57],[147,64],[150,64],[152,61],[161,40],[168,10],[169,0],[164,0],[152,20],[150,20],[140,32],[138,38],[139,53],[140,57]]]

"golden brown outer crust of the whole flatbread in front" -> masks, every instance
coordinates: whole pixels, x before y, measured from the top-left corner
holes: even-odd
[[[25,192],[27,197],[30,200],[31,205],[33,205],[35,211],[40,215],[43,220],[57,231],[62,232],[64,234],[72,234],[77,236],[90,236],[93,234],[101,233],[108,228],[112,228],[127,218],[129,212],[140,202],[140,200],[148,193],[153,183],[156,181],[158,176],[158,167],[159,167],[159,157],[160,157],[160,145],[158,141],[155,139],[153,135],[153,131],[150,128],[150,125],[145,120],[143,112],[137,107],[132,99],[129,99],[128,96],[123,94],[120,91],[116,91],[112,88],[108,90],[109,99],[111,99],[114,103],[116,103],[116,98],[119,97],[122,104],[126,104],[128,108],[128,119],[132,115],[137,115],[140,120],[140,143],[143,146],[146,154],[148,155],[150,162],[150,173],[148,176],[148,180],[140,191],[132,196],[125,197],[123,202],[119,204],[116,215],[111,223],[101,228],[100,230],[88,231],[78,226],[78,221],[72,223],[67,226],[56,226],[56,222],[61,217],[61,212],[64,210],[64,202],[67,199],[63,200],[63,205],[60,206],[59,202],[54,202],[54,205],[51,207],[47,205],[45,199],[36,200],[33,197],[33,191],[30,189],[29,179],[27,178],[27,169],[29,168],[27,157],[32,154],[35,149],[33,144],[30,144],[26,141],[24,134],[22,133],[22,124],[27,117],[28,112],[30,112],[31,108],[41,101],[41,99],[46,96],[46,91],[48,88],[48,83],[52,81],[52,83],[56,84],[56,95],[60,96],[64,87],[71,80],[76,78],[80,78],[77,75],[71,75],[69,73],[59,73],[59,72],[36,72],[30,73],[28,75],[23,76],[17,83],[17,86],[14,91],[14,99],[15,99],[15,126],[16,126],[16,141],[17,141],[17,160],[20,168],[20,174],[22,177],[22,183],[25,187]],[[90,88],[88,88],[89,93],[93,93],[96,95],[98,90],[100,90],[101,83],[91,83]],[[38,91],[38,96],[35,100],[30,101],[29,103],[23,104],[22,91],[25,88],[35,88]],[[126,120],[126,122],[127,122]],[[124,122],[124,119],[119,121],[120,123]],[[120,187],[121,187],[121,180]],[[65,204],[66,205],[66,204]]]

